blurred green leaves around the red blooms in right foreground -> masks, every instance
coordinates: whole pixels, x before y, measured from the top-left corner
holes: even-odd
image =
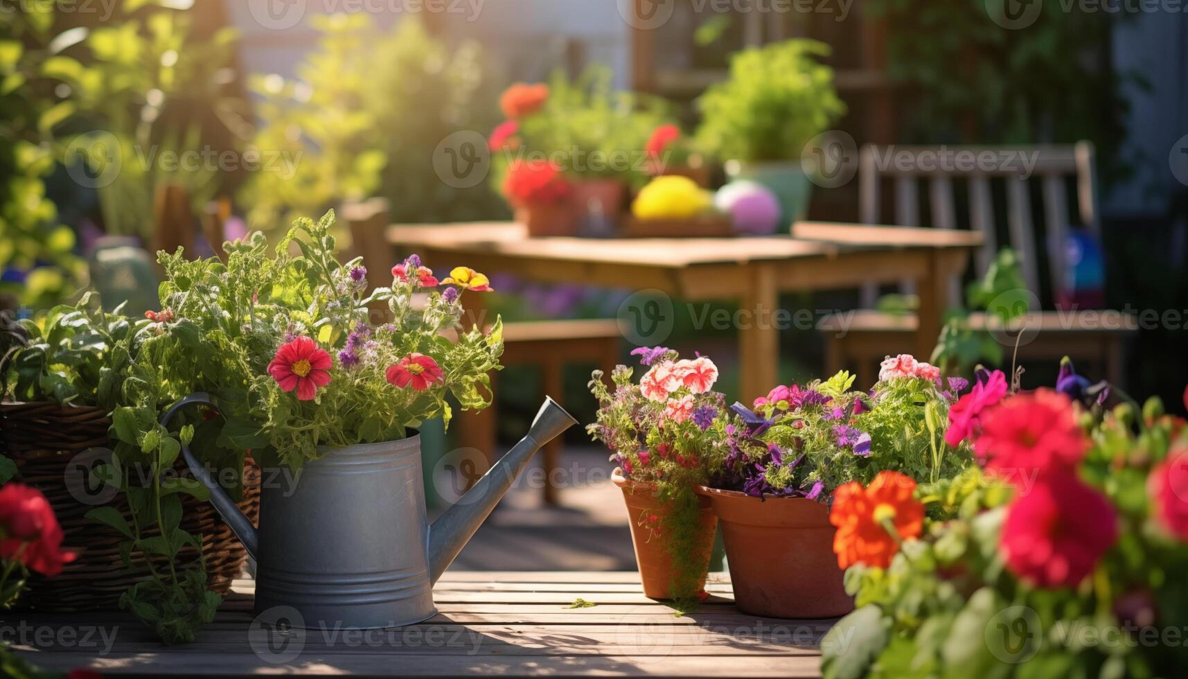
[[[886,570],[846,572],[859,608],[822,645],[824,675],[1175,675],[1188,623],[1177,573],[1188,548],[1152,521],[1148,483],[1155,465],[1182,449],[1184,425],[1158,403],[1148,409],[1137,432],[1130,405],[1081,413],[1093,446],[1080,477],[1119,521],[1118,542],[1081,586],[1037,589],[1004,567],[999,543],[1015,489],[975,467],[923,484],[924,535],[904,542]],[[1169,630],[1176,641],[1163,641]]]

